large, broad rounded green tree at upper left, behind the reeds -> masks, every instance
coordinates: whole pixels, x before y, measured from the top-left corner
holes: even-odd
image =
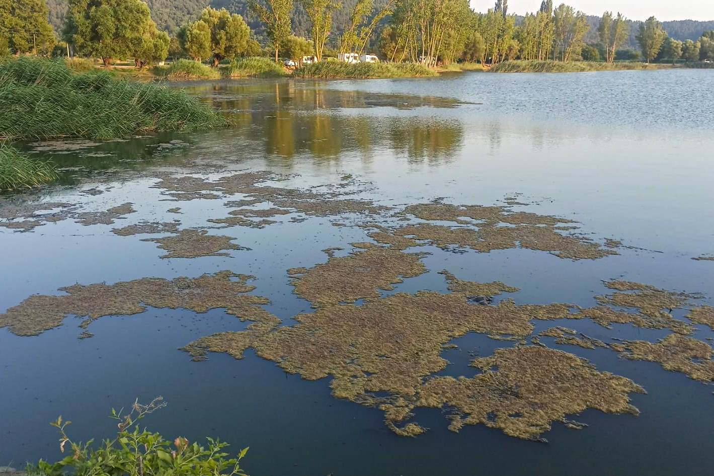
[[[149,6],[141,0],[69,0],[64,39],[79,54],[98,56],[106,67],[114,58],[134,57],[147,34],[158,38]],[[148,46],[141,56],[147,51]]]

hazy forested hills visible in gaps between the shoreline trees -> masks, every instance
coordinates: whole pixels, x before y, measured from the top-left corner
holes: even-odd
[[[191,19],[196,19],[201,14],[201,10],[206,6],[214,8],[226,8],[232,13],[241,14],[246,19],[248,25],[256,31],[258,35],[263,34],[265,30],[263,24],[248,11],[248,3],[246,0],[145,0],[151,9],[151,16],[159,25],[160,29],[174,33],[178,28]],[[344,0],[343,7],[333,16],[334,31],[341,34],[345,26],[349,22],[350,10],[356,4],[357,0]],[[382,6],[386,0],[376,0],[377,6]],[[67,10],[66,0],[47,0],[49,6],[49,21],[54,26],[55,31],[60,31],[64,15]],[[600,17],[588,16],[590,24],[590,32],[585,37],[588,43],[598,42],[598,24]],[[694,20],[679,20],[679,21],[664,21],[665,30],[673,38],[680,41],[695,40],[702,36],[703,32],[714,30],[714,21],[694,21]],[[637,48],[635,35],[640,28],[639,21],[630,21],[630,39],[627,45],[630,48]],[[293,32],[298,36],[306,36],[310,31],[310,21],[305,10],[296,2],[293,9]]]

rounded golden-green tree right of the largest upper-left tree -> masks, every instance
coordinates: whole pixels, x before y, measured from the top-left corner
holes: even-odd
[[[224,59],[233,60],[245,56],[251,41],[251,29],[243,17],[229,14],[228,10],[204,9],[201,18],[181,31],[183,48],[193,58],[211,56],[213,66]]]

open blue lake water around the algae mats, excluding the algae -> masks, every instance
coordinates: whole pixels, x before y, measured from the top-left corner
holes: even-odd
[[[294,325],[311,312],[293,294],[288,268],[323,263],[321,250],[368,240],[360,217],[271,219],[266,228],[216,230],[223,204],[240,196],[171,201],[151,188],[166,173],[218,178],[245,171],[288,176],[281,187],[348,191],[350,198],[403,208],[446,203],[505,205],[578,222],[584,236],[621,240],[619,255],[565,260],[538,250],[448,253],[424,246],[430,271],[394,291],[446,292],[438,271],[463,280],[495,280],[521,288],[518,304],[594,305],[608,293],[602,281],[624,279],[666,290],[702,293],[714,303],[714,73],[707,70],[622,71],[593,74],[453,74],[439,79],[369,81],[215,81],[176,84],[225,111],[235,126],[128,141],[28,144],[63,168],[60,186],[39,194],[2,196],[80,204],[106,211],[131,202],[137,213],[111,225],[76,219],[32,231],[0,228],[0,312],[33,294],[57,295],[75,283],[117,283],[145,277],[196,278],[232,270],[253,275],[251,294],[270,298],[266,310]],[[350,176],[346,178],[346,176]],[[345,188],[338,185],[345,183]],[[326,186],[323,188],[310,188]],[[101,192],[101,193],[100,193]],[[180,213],[169,213],[180,207]],[[294,219],[293,218],[297,218]],[[303,218],[307,218],[303,221]],[[236,238],[249,250],[228,256],[160,258],[142,241],[157,235],[117,236],[112,228],[141,220],[180,221]],[[178,222],[176,222],[178,223]],[[335,223],[346,226],[334,226]],[[679,316],[680,317],[680,316]],[[222,309],[194,313],[149,308],[131,316],[99,318],[94,337],[77,339],[84,318],[33,337],[0,329],[0,465],[59,457],[57,415],[72,420],[78,440],[110,436],[111,407],[163,395],[169,405],[146,425],[167,437],[218,436],[233,450],[250,446],[248,473],[277,475],[709,475],[714,430],[712,388],[657,363],[618,358],[609,349],[566,350],[598,370],[631,378],[647,390],[630,395],[638,417],[585,410],[589,426],[558,422],[548,443],[508,437],[483,425],[447,430],[438,409],[416,410],[430,430],[398,437],[379,410],[331,396],[329,379],[308,381],[246,350],[243,360],[211,353],[192,362],[178,350],[192,340],[242,323]],[[589,321],[536,324],[535,332],[565,325],[592,338],[654,341],[666,330]],[[703,325],[693,337],[714,336]],[[513,343],[469,333],[440,375],[473,376],[468,362]]]

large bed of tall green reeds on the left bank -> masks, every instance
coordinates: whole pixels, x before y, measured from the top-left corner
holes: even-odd
[[[0,139],[118,138],[151,131],[225,126],[183,91],[74,74],[63,60],[20,57],[0,64]]]

